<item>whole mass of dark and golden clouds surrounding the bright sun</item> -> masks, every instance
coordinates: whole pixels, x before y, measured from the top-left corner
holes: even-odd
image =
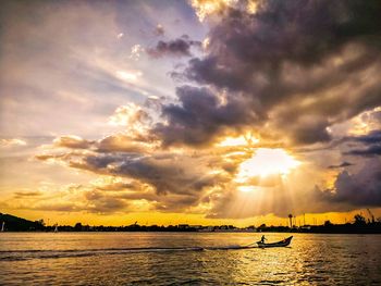
[[[269,0],[255,11],[247,3],[206,15],[206,45],[183,36],[146,48],[153,64],[182,60],[170,72],[175,100],[156,101],[160,116],[127,105],[119,110],[125,133],[62,136],[37,156],[128,181],[122,192],[87,186],[82,200],[91,207],[69,210],[133,211],[145,201],[150,210],[249,217],[381,207],[381,2]],[[349,134],[364,112],[372,128]],[[218,146],[248,133],[257,146]],[[288,182],[253,177],[257,190],[238,191],[239,164],[263,147],[306,163]]]

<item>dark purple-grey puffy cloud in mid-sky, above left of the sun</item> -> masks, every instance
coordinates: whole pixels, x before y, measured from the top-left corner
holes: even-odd
[[[238,97],[222,104],[208,88],[190,86],[179,87],[176,95],[180,104],[162,108],[168,124],[159,123],[153,129],[164,145],[204,145],[224,127],[237,128],[256,120],[256,114],[245,109]]]

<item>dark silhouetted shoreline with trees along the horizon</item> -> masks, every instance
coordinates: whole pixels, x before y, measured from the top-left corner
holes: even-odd
[[[28,221],[11,214],[0,213],[0,223],[2,232],[39,232],[39,233],[134,233],[134,232],[155,232],[155,233],[307,233],[307,234],[381,234],[381,221],[372,219],[366,221],[360,214],[355,215],[354,223],[332,224],[325,221],[323,225],[303,225],[288,226],[267,226],[261,224],[258,227],[254,225],[247,227],[236,227],[234,225],[139,225],[136,223],[125,226],[103,226],[103,225],[83,225],[76,223],[72,225],[46,225],[44,220]]]

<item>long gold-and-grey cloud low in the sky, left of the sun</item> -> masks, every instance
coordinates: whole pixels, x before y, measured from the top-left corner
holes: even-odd
[[[93,148],[94,149],[94,148]],[[211,187],[231,181],[226,162],[213,156],[201,157],[181,153],[157,152],[156,154],[118,152],[121,147],[114,146],[110,152],[94,149],[93,151],[70,151],[58,154],[36,157],[41,161],[63,163],[70,167],[88,171],[99,175],[128,178],[133,182],[111,182],[107,186],[94,188],[96,197],[106,196],[109,191],[130,189],[134,194],[119,195],[118,199],[147,200],[151,208],[161,211],[181,211],[196,207]],[[211,167],[212,166],[212,167]],[[232,166],[230,166],[231,172]],[[94,195],[93,194],[93,195]],[[88,195],[95,198],[93,195]],[[86,197],[88,200],[88,198]],[[113,197],[113,199],[115,199]],[[98,206],[97,209],[101,206]],[[106,208],[106,207],[105,207]],[[106,209],[102,209],[106,212]]]

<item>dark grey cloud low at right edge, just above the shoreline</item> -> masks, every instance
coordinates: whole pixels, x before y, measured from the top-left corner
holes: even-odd
[[[371,159],[356,174],[343,171],[337,175],[334,189],[321,192],[321,199],[345,202],[355,207],[381,206],[381,160]]]

